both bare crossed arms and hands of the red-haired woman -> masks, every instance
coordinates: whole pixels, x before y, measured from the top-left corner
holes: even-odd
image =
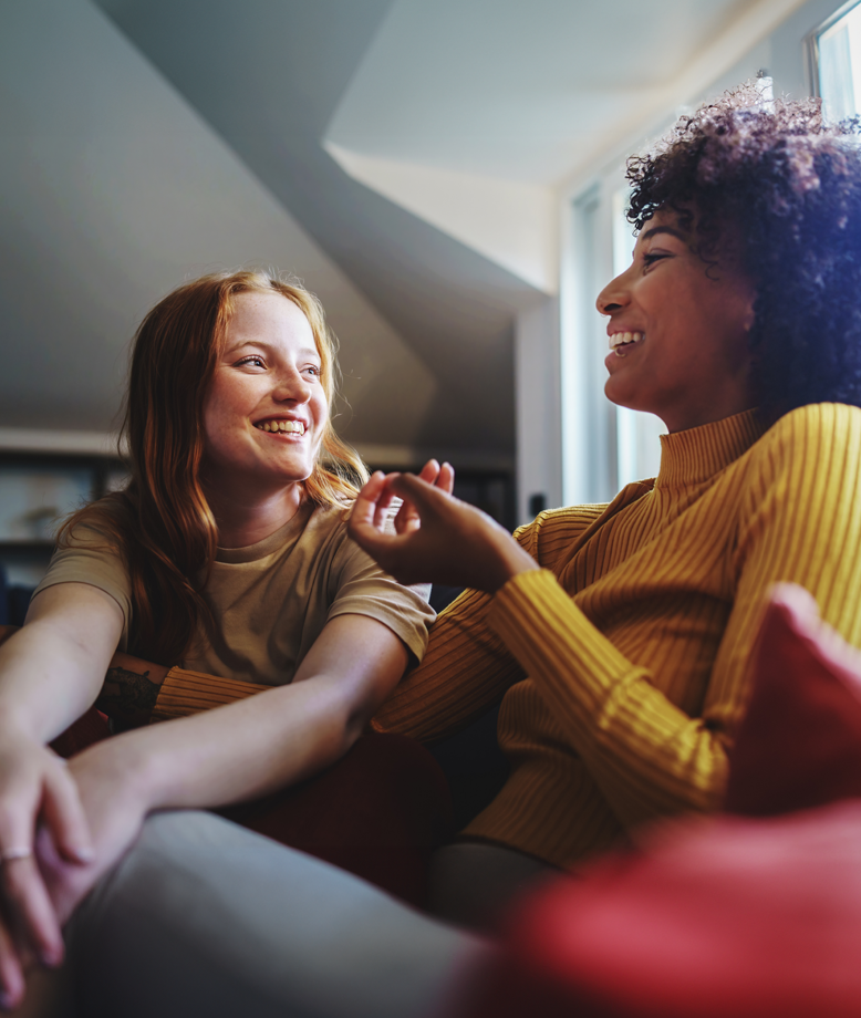
[[[107,594],[58,584],[33,600],[24,627],[0,647],[0,860],[11,917],[0,926],[0,1005],[20,1000],[30,953],[49,965],[61,959],[60,926],[148,812],[256,798],[334,762],[407,663],[387,626],[339,615],[290,685],[127,731],[66,767],[45,744],[95,700],[122,624]],[[138,683],[145,698],[152,678]]]

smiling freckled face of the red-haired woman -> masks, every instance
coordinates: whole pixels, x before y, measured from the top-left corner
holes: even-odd
[[[238,294],[204,404],[207,487],[242,485],[251,496],[297,486],[314,468],[328,417],[302,311],[280,293]]]

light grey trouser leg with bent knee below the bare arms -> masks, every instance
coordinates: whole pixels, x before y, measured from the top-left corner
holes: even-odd
[[[151,817],[68,929],[86,1018],[444,1015],[492,948],[210,813]]]

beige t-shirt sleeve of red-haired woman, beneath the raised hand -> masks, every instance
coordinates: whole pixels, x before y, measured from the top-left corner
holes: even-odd
[[[391,519],[386,529],[392,529]],[[338,615],[376,619],[404,641],[416,661],[427,648],[427,630],[436,612],[427,603],[430,585],[404,586],[344,534],[333,570],[334,599],[326,622]]]

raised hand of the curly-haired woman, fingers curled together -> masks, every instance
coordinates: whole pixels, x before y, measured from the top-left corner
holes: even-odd
[[[430,460],[416,477],[374,474],[356,498],[349,532],[402,583],[445,583],[495,593],[511,576],[538,569],[531,555],[485,512],[452,495],[454,471]],[[395,533],[384,529],[403,498]]]

